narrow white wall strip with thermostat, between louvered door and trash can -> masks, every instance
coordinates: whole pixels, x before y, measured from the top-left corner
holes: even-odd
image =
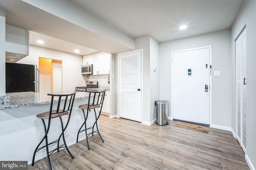
[[[156,68],[156,72],[153,71]],[[156,119],[154,103],[160,99],[159,43],[150,37],[150,122]]]

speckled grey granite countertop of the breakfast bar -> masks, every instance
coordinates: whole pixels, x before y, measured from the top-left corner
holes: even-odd
[[[6,93],[6,96],[10,96],[10,102],[6,104],[0,104],[0,110],[24,106],[33,106],[39,104],[48,104],[51,102],[51,96],[48,96],[47,94],[38,94],[35,92],[13,92]],[[76,93],[75,100],[84,98],[88,98],[88,93]]]

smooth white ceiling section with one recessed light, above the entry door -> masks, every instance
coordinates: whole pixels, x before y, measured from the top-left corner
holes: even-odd
[[[134,39],[159,43],[230,29],[244,0],[72,0]],[[187,25],[186,30],[178,29]]]

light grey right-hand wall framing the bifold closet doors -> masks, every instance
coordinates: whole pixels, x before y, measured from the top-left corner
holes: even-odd
[[[256,1],[245,0],[232,26],[232,129],[236,131],[236,57],[235,39],[246,25],[247,55],[247,149],[246,161],[256,168]]]

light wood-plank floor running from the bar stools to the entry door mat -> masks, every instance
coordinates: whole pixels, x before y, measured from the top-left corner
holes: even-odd
[[[55,170],[249,170],[238,141],[229,131],[210,128],[209,134],[170,125],[142,125],[127,119],[100,116],[100,133],[50,156]],[[47,158],[29,170],[48,170]]]

